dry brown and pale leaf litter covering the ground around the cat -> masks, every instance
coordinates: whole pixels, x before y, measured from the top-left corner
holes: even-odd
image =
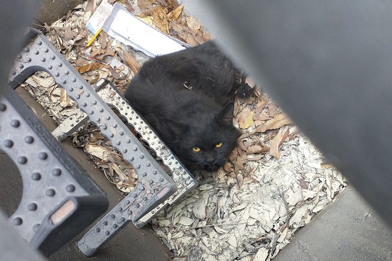
[[[90,84],[108,78],[123,93],[148,57],[104,31],[86,47],[92,37],[86,25],[100,2],[87,0],[42,29]],[[211,39],[176,0],[109,0],[114,2],[192,46]],[[245,83],[256,84],[249,77]],[[49,74],[31,76],[24,88],[57,123],[74,115],[75,103]],[[217,172],[204,175],[198,188],[151,221],[173,258],[269,261],[346,186],[336,168],[259,90],[246,101],[236,100],[234,125],[243,134],[230,160]],[[124,195],[132,191],[136,172],[96,126],[87,123],[71,138],[110,183]]]

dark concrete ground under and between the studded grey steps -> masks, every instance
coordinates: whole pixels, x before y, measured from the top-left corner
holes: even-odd
[[[54,130],[56,124],[45,112],[45,110],[23,89],[18,88],[17,92],[25,100],[25,103],[39,115],[42,123],[49,131]],[[87,160],[86,154],[81,150],[74,148],[70,139],[61,143],[67,151],[80,165],[86,170],[87,175],[106,193],[109,199],[109,208],[113,208],[123,198],[119,190],[107,182],[102,172],[98,170],[91,161]],[[8,215],[18,207],[22,196],[22,180],[14,163],[3,153],[0,152],[0,166],[2,173],[0,175],[0,209]],[[92,225],[91,225],[92,226]],[[88,228],[89,229],[89,228]],[[88,230],[86,229],[85,232]],[[170,260],[170,252],[167,247],[158,239],[152,231],[146,226],[143,229],[137,229],[132,223],[128,224],[109,241],[97,254],[87,259],[81,254],[76,242],[82,237],[84,232],[77,235],[71,242],[58,250],[49,260],[132,260],[132,261],[165,261]],[[0,257],[1,259],[1,257]]]

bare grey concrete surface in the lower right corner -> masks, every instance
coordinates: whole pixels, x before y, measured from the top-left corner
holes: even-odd
[[[382,200],[382,199],[380,199]],[[392,230],[348,186],[274,261],[390,261]]]

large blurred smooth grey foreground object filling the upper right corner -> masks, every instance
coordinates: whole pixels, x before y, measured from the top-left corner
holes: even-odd
[[[392,224],[392,2],[187,1]]]

